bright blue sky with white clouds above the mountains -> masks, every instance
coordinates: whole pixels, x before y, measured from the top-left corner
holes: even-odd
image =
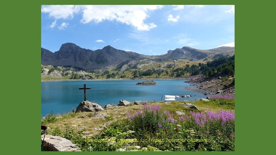
[[[144,55],[235,47],[235,6],[41,5],[41,47],[55,52],[66,42]]]

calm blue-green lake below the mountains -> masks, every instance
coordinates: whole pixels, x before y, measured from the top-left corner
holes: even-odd
[[[206,98],[210,95],[204,95],[200,92],[194,92],[184,89],[190,86],[185,83],[186,80],[154,80],[155,86],[139,86],[137,82],[145,80],[98,80],[98,81],[53,81],[41,82],[41,115],[51,113],[68,113],[84,100],[83,84],[91,89],[86,90],[86,100],[93,101],[100,106],[107,104],[119,104],[120,100],[135,102],[146,100],[148,102],[163,101],[164,95],[192,95],[192,98],[176,98],[177,101],[196,100]],[[163,98],[162,98],[163,95]]]

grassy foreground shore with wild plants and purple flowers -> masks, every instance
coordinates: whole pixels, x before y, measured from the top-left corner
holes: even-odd
[[[234,122],[223,126],[221,121],[213,122],[208,114],[234,115],[234,99],[211,99],[210,101],[189,101],[200,110],[183,107],[183,102],[148,102],[147,105],[112,106],[100,114],[103,117],[94,117],[91,112],[70,112],[63,115],[50,115],[43,119],[43,125],[49,127],[47,134],[59,135],[71,140],[83,151],[233,151],[234,148]],[[158,109],[156,109],[158,108]],[[154,111],[150,109],[156,109]],[[192,111],[191,111],[192,110]],[[163,111],[168,114],[163,114]],[[176,111],[184,114],[178,115]],[[145,114],[145,115],[144,115]],[[198,125],[196,115],[206,115],[205,125]],[[194,117],[194,118],[193,118]],[[162,119],[165,118],[165,119]],[[189,119],[185,119],[189,118]],[[204,117],[205,118],[205,117]],[[148,122],[148,121],[149,122]],[[162,121],[163,120],[163,121]],[[173,123],[170,121],[174,121]],[[142,122],[141,122],[142,121]],[[223,121],[223,119],[222,119]],[[225,120],[224,120],[225,121]],[[201,122],[201,121],[200,121]],[[199,123],[200,123],[199,122]],[[149,124],[147,124],[149,123]],[[203,122],[204,123],[204,122]],[[221,125],[222,124],[222,125]],[[152,126],[155,125],[155,126]],[[134,128],[133,128],[134,127]],[[152,128],[153,127],[153,128]],[[224,127],[227,127],[225,130]],[[230,128],[229,128],[230,127]],[[176,129],[177,128],[177,129]],[[141,129],[141,131],[139,130]],[[154,130],[152,130],[154,129]],[[70,131],[70,132],[69,132]],[[207,133],[206,133],[207,132]],[[143,134],[141,134],[143,133]],[[163,143],[163,142],[119,142],[120,139],[165,139],[170,138],[212,138],[212,143]],[[87,139],[115,138],[115,143],[87,142]],[[221,139],[221,140],[219,140]],[[135,149],[134,146],[147,149]]]

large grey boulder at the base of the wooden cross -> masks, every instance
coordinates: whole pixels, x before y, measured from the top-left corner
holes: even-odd
[[[103,110],[104,109],[99,104],[89,101],[81,102],[76,108],[76,112],[97,112]]]

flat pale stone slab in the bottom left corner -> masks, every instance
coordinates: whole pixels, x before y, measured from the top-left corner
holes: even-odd
[[[43,138],[44,135],[41,135],[42,140]],[[81,151],[70,140],[53,135],[45,135],[43,149],[44,151]]]

